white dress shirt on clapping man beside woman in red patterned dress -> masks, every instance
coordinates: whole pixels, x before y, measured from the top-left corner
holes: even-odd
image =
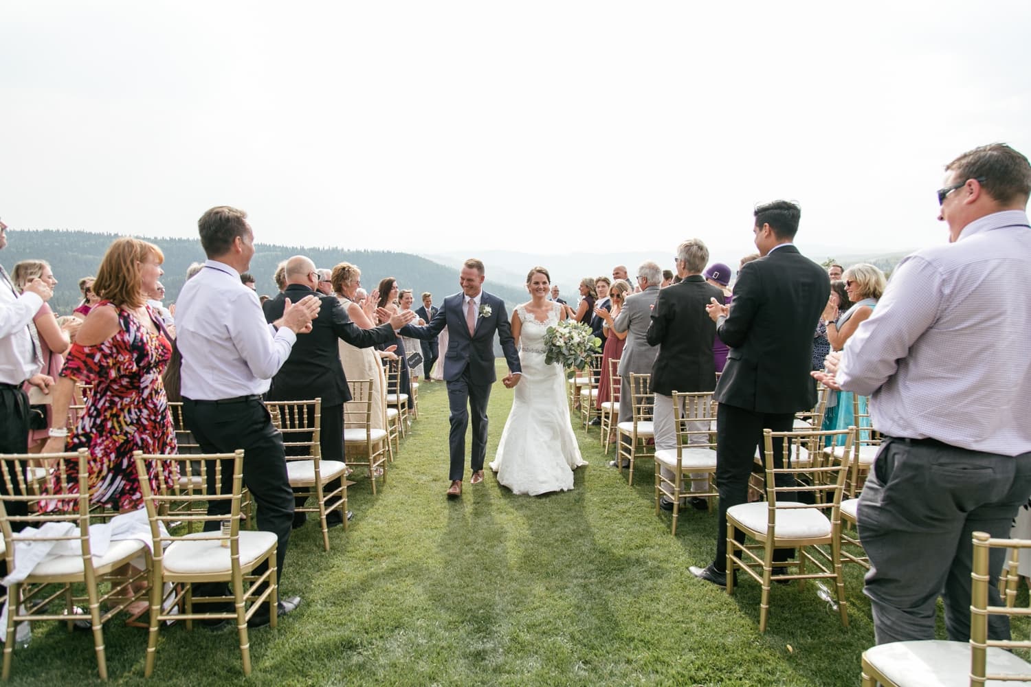
[[[265,321],[258,294],[225,263],[209,260],[175,306],[181,391],[194,401],[264,393],[297,335]]]

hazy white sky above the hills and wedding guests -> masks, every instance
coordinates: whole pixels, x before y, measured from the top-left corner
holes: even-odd
[[[718,6],[713,6],[718,5]],[[1031,154],[1031,2],[0,5],[12,230],[411,252],[944,240],[941,167]]]

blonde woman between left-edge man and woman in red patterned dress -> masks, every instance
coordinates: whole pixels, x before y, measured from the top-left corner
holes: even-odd
[[[14,266],[11,273],[14,281],[14,288],[19,294],[25,293],[26,286],[33,279],[42,279],[53,289],[58,284],[54,277],[49,263],[42,260],[25,260]],[[64,354],[71,346],[71,339],[78,332],[82,320],[77,317],[65,318],[62,327],[58,318],[54,315],[49,305],[43,303],[32,318],[30,328],[36,329],[39,341],[39,353],[42,359],[42,374],[57,378],[64,366]],[[25,391],[30,393],[29,385],[26,384]],[[53,398],[51,399],[53,400]],[[49,403],[38,404],[30,407],[31,430],[29,432],[29,452],[38,453],[46,443],[48,430],[52,425],[52,405]]]

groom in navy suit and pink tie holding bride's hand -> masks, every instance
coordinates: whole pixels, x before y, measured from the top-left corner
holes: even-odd
[[[451,406],[451,487],[448,496],[462,495],[462,475],[465,472],[465,431],[472,414],[472,480],[484,481],[484,459],[487,456],[487,402],[491,384],[497,381],[494,372],[494,333],[498,333],[501,348],[508,362],[509,374],[502,383],[508,388],[519,383],[522,371],[519,352],[512,339],[504,301],[483,289],[484,264],[475,259],[465,261],[459,274],[461,294],[444,299],[444,305],[425,327],[406,325],[402,336],[432,339],[447,328],[447,352],[444,354],[444,381],[447,382],[447,404]],[[468,410],[466,405],[468,404]]]

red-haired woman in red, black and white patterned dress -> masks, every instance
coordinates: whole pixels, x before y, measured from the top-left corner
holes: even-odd
[[[118,511],[142,507],[133,451],[176,450],[161,380],[171,342],[160,315],[143,296],[164,274],[162,262],[161,249],[152,243],[115,239],[93,283],[101,301],[86,316],[51,391],[54,419],[43,450],[89,449],[91,503]],[[75,381],[93,384],[93,392],[68,437],[64,419]],[[166,486],[175,479],[175,466],[171,459],[164,466]],[[159,490],[157,470],[147,478]],[[73,465],[67,480],[75,489],[78,476]]]

